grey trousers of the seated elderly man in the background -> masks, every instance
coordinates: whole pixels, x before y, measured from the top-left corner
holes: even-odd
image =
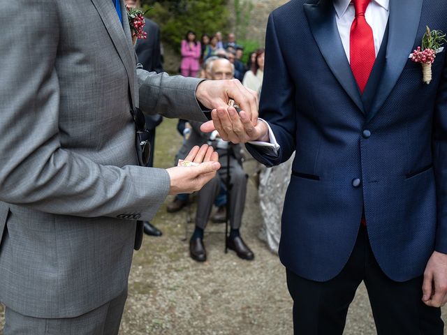
[[[202,229],[205,229],[208,218],[210,218],[212,204],[219,194],[221,184],[226,183],[227,153],[226,150],[221,149],[217,149],[217,152],[221,169],[216,177],[198,191],[196,225]],[[230,155],[230,225],[233,229],[239,229],[242,223],[247,195],[247,179],[248,176],[242,169],[241,163],[233,155]]]

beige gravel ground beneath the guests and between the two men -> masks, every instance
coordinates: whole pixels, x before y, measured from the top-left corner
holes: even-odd
[[[170,166],[178,149],[175,124],[165,120],[157,130],[159,167]],[[247,162],[245,168],[253,172],[254,162]],[[253,262],[240,260],[232,251],[223,253],[225,227],[214,223],[205,234],[208,261],[200,264],[191,260],[184,240],[185,227],[188,238],[193,230],[191,223],[186,224],[189,211],[168,214],[166,207],[161,208],[153,223],[163,230],[163,237],[145,237],[141,250],[133,256],[120,335],[292,334],[292,302],[284,267],[258,239],[261,217],[251,179],[248,192],[241,232],[256,254]],[[169,197],[166,203],[171,200]],[[444,308],[444,320],[446,312]],[[376,334],[363,285],[349,308],[344,334]]]

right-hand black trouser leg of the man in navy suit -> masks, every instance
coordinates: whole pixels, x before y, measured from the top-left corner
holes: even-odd
[[[379,335],[442,335],[441,308],[422,302],[423,277],[398,283],[388,278],[377,264],[371,249],[365,285]]]

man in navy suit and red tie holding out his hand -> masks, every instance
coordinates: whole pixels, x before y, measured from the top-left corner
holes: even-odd
[[[430,84],[409,59],[426,26],[447,31],[441,2],[292,0],[268,20],[266,122],[212,112],[265,165],[296,151],[279,256],[297,334],[342,334],[362,281],[379,334],[443,334],[446,52]]]

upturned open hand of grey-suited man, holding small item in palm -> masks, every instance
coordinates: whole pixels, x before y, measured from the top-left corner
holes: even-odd
[[[169,194],[193,193],[199,191],[221,168],[219,155],[207,144],[202,147],[193,147],[186,156],[185,161],[198,163],[197,166],[178,167],[167,169],[170,177]]]

